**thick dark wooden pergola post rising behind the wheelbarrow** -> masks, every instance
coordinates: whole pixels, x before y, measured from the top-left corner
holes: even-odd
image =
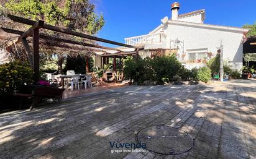
[[[34,82],[39,81],[39,28],[33,29],[33,69]]]

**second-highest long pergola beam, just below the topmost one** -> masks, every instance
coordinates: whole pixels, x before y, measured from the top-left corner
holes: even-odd
[[[13,30],[13,29],[10,29],[10,28],[1,27],[1,29],[4,30],[4,32],[7,32],[7,33],[14,33],[14,34],[17,34],[17,35],[24,34],[24,32],[22,32],[22,31]],[[30,35],[29,37],[32,37],[32,35]],[[75,44],[75,45],[88,46],[88,47],[91,47],[91,48],[101,48],[101,49],[109,49],[109,50],[114,50],[114,51],[121,51],[120,49],[116,49],[116,48],[109,48],[109,47],[105,47],[105,46],[94,45],[94,44],[90,44],[90,43],[83,43],[83,42],[73,41],[73,40],[66,40],[66,39],[63,39],[63,38],[53,38],[53,37],[49,37],[47,35],[42,35],[42,34],[39,34],[39,37],[42,38],[42,39],[46,39],[46,40],[60,41],[60,42],[63,42],[63,43],[70,43],[70,44]]]

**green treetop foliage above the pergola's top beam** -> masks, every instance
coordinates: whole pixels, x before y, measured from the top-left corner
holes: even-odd
[[[11,14],[42,19],[50,25],[65,26],[91,35],[101,30],[105,23],[103,15],[94,12],[95,6],[89,0],[11,0],[5,7]]]

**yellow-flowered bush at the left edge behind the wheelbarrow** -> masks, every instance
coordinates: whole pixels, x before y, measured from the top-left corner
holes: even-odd
[[[19,91],[22,85],[32,82],[33,71],[29,64],[13,61],[0,65],[0,94],[12,95]]]

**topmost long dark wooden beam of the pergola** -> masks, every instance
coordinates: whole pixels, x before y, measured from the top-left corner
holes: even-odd
[[[22,17],[17,17],[15,15],[11,15],[11,14],[8,14],[7,17],[9,17],[9,19],[13,20],[14,22],[19,22],[19,23],[22,23],[22,24],[34,25],[36,23],[36,21],[34,21],[34,20],[24,19]],[[132,45],[126,45],[124,43],[118,43],[116,41],[106,40],[104,38],[93,37],[91,35],[86,35],[85,33],[78,33],[78,32],[74,32],[73,30],[68,30],[66,28],[60,28],[60,27],[55,27],[55,26],[48,25],[48,24],[43,24],[42,28],[52,30],[52,31],[55,31],[55,32],[66,33],[68,35],[74,35],[76,37],[87,38],[87,39],[95,40],[95,41],[101,41],[103,43],[109,43],[109,44],[112,44],[112,45],[125,46],[127,48],[137,48],[137,47],[132,46]]]

